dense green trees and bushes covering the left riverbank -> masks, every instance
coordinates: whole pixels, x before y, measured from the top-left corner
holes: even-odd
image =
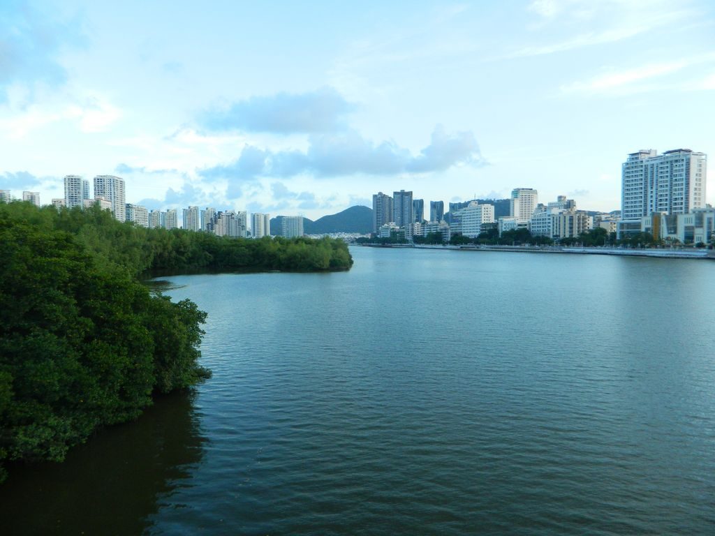
[[[206,314],[139,281],[152,270],[349,269],[331,239],[229,239],[144,229],[107,211],[0,203],[0,481],[7,460],[62,460],[152,394],[209,375]]]

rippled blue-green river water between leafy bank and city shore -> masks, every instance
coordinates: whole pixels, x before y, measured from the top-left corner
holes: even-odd
[[[715,262],[352,254],[169,278],[213,378],[15,468],[0,532],[715,532]]]

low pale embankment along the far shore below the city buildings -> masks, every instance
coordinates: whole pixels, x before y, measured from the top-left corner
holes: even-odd
[[[458,251],[518,252],[518,253],[571,253],[591,255],[618,255],[621,257],[659,257],[663,259],[711,259],[713,249],[625,249],[618,247],[568,247],[568,246],[486,246],[486,245],[430,245],[430,244],[355,244],[367,247],[408,247],[417,249],[450,249]]]

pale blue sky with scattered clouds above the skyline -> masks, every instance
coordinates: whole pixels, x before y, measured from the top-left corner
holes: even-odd
[[[0,1],[0,189],[43,203],[611,211],[628,153],[678,148],[715,154],[711,0]]]

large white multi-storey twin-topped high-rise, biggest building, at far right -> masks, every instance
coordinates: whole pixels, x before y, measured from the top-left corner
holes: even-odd
[[[621,217],[686,214],[705,207],[707,157],[690,149],[628,154],[621,169]]]

